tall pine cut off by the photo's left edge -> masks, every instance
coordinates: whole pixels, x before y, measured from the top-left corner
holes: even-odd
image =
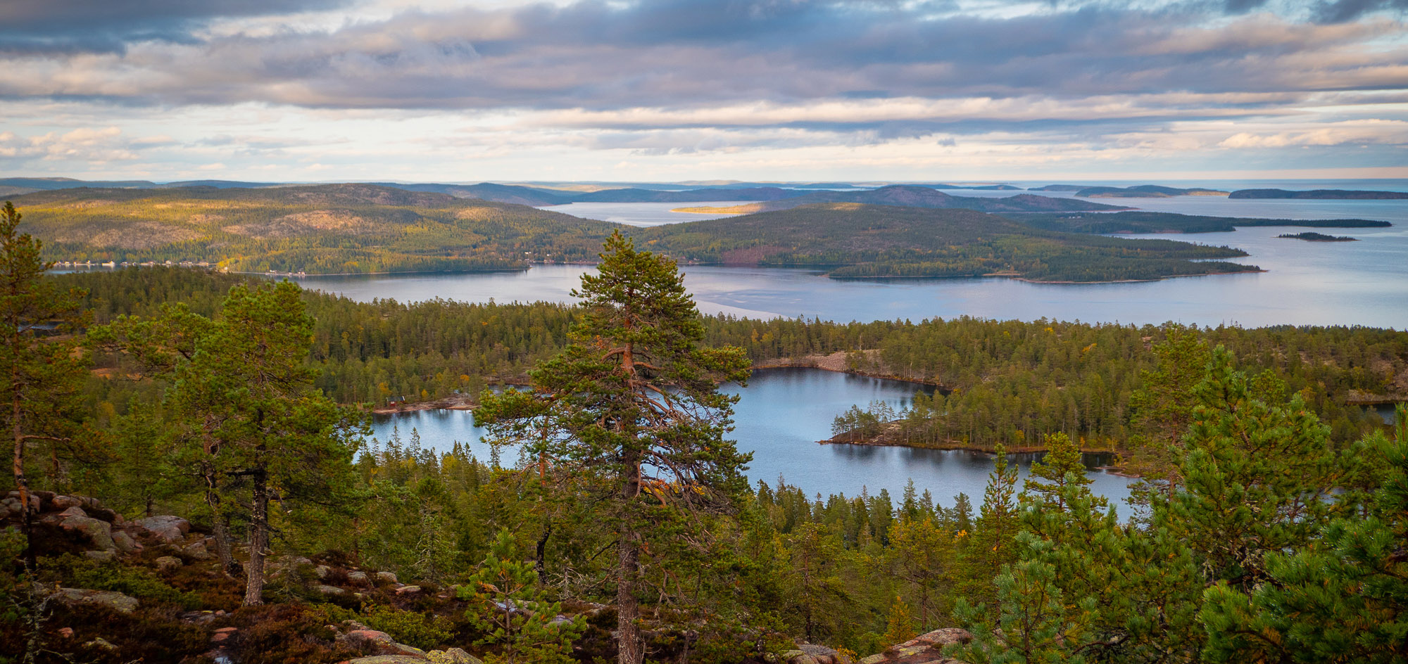
[[[65,460],[82,453],[75,438],[77,392],[87,356],[70,335],[84,322],[80,290],[62,291],[44,273],[42,243],[20,234],[21,215],[6,201],[0,208],[0,425],[10,439],[14,485],[20,491],[25,558],[34,563],[30,452],[48,449],[51,484],[65,483]],[[41,474],[44,477],[44,474]]]

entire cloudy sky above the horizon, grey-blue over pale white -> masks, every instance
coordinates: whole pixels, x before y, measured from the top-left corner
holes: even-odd
[[[1408,177],[1408,0],[21,0],[0,176]]]

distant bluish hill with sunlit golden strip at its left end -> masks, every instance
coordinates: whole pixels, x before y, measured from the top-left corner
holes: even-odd
[[[972,196],[950,196],[943,191],[914,184],[891,184],[865,191],[812,191],[810,194],[780,198],[756,205],[731,208],[683,208],[690,212],[767,212],[788,210],[817,203],[862,203],[866,205],[897,205],[918,208],[964,208],[984,212],[1045,212],[1045,211],[1100,211],[1129,210],[1125,207],[1074,198],[1052,198],[1048,196],[1018,194],[1002,198],[981,198]]]

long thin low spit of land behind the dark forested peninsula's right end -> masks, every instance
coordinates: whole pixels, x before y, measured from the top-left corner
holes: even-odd
[[[1262,219],[1145,211],[1086,215],[1014,214],[1011,218],[1048,231],[1077,234],[1209,234],[1236,231],[1238,226],[1387,228],[1393,225],[1376,219]]]

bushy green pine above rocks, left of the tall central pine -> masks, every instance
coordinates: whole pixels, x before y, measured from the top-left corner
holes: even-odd
[[[296,284],[235,286],[176,371],[173,400],[201,432],[197,454],[217,478],[213,488],[248,499],[245,605],[263,604],[269,501],[284,509],[303,501],[337,505],[353,490],[360,415],[314,388],[306,362],[311,328]]]

